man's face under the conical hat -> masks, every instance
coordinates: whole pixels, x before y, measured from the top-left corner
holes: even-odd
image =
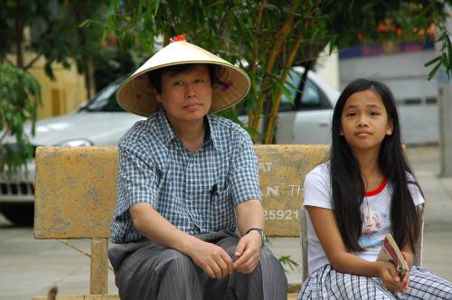
[[[205,64],[180,73],[162,74],[162,93],[157,100],[173,125],[202,121],[212,104],[212,84]]]

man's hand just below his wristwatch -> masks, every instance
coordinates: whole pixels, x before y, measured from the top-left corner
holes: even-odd
[[[262,239],[256,230],[241,237],[234,252],[237,258],[232,265],[234,270],[243,274],[251,273],[258,266],[261,246]]]

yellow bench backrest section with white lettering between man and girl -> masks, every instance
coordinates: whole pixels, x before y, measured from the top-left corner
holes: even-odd
[[[256,145],[260,190],[270,237],[299,237],[306,173],[325,161],[327,145]]]

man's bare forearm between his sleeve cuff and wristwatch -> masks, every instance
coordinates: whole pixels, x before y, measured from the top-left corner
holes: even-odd
[[[264,229],[264,210],[259,200],[249,200],[237,205],[237,225],[243,235],[250,228]]]

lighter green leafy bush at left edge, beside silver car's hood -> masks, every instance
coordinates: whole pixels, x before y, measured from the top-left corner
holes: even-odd
[[[10,64],[0,65],[0,173],[14,171],[33,157],[27,134],[34,134],[36,107],[41,88],[28,72]],[[32,130],[24,133],[24,124],[32,121]],[[6,136],[14,144],[4,144]]]

